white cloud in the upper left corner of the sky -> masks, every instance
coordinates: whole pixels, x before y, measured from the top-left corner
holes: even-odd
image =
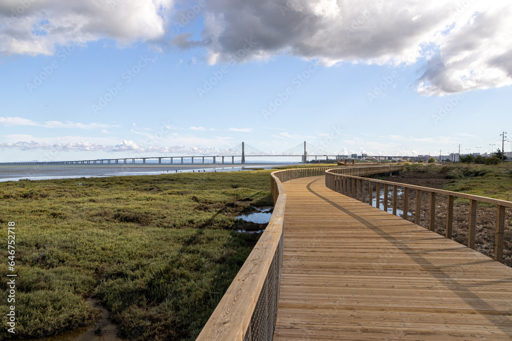
[[[0,54],[51,55],[71,42],[115,39],[121,45],[165,35],[173,0],[4,0]]]

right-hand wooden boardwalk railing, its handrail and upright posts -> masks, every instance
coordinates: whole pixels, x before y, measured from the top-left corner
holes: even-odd
[[[352,185],[354,184],[358,185]],[[430,218],[429,218],[429,229],[435,231],[435,218],[436,218],[436,194],[446,195],[448,202],[446,207],[446,228],[445,237],[452,239],[453,233],[453,210],[454,210],[454,198],[465,198],[470,200],[470,207],[468,210],[468,230],[467,230],[467,246],[475,248],[475,236],[476,236],[476,221],[477,221],[477,207],[478,202],[486,202],[495,204],[497,207],[496,212],[496,236],[495,236],[495,255],[494,259],[498,262],[503,263],[503,247],[504,247],[504,229],[505,229],[505,213],[506,208],[512,208],[512,202],[494,198],[483,197],[479,195],[465,194],[459,192],[439,190],[435,188],[408,185],[402,183],[395,183],[392,181],[377,180],[353,174],[340,174],[338,168],[329,169],[326,171],[326,186],[334,191],[342,194],[346,194],[356,198],[359,201],[366,203],[366,196],[362,198],[357,197],[353,194],[354,187],[365,187],[366,183],[369,183],[369,200],[368,203],[373,206],[373,183],[376,184],[376,204],[375,207],[380,208],[380,189],[384,187],[384,199],[383,199],[383,211],[388,211],[388,186],[393,186],[393,214],[396,215],[397,208],[397,193],[398,187],[403,188],[403,219],[407,219],[409,216],[409,190],[416,190],[416,216],[415,223],[419,225],[421,217],[421,193],[430,193]],[[333,186],[333,184],[340,184],[340,186]],[[359,184],[360,183],[360,184]],[[351,193],[352,191],[352,193]],[[512,264],[509,264],[512,265]]]

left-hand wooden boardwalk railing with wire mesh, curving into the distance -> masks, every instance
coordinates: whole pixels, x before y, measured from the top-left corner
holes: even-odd
[[[399,171],[403,166],[343,167],[339,172],[369,176]],[[394,167],[394,168],[393,168]],[[283,265],[283,226],[286,192],[283,183],[308,176],[321,176],[332,168],[302,168],[270,174],[274,211],[267,228],[227,289],[197,340],[271,340],[278,312]]]

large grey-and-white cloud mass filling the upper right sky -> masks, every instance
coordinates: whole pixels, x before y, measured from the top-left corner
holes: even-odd
[[[509,1],[219,0],[207,8],[203,40],[182,33],[175,45],[204,46],[210,64],[280,54],[328,66],[425,58],[417,92],[444,95],[512,84],[511,16]]]

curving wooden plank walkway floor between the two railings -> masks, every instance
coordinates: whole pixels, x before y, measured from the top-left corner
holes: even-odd
[[[277,340],[510,340],[512,269],[416,224],[286,181]]]

